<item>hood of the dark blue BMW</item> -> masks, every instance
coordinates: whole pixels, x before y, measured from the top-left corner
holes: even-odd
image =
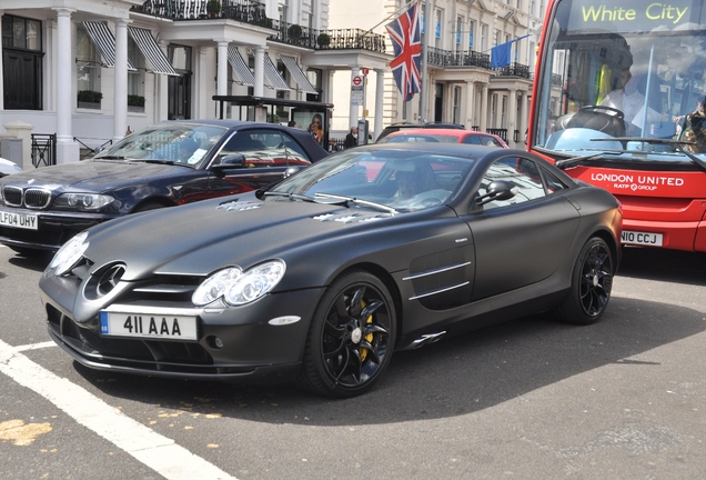
[[[121,183],[134,183],[135,179],[168,174],[174,169],[169,164],[119,161],[81,161],[13,173],[6,184],[31,186],[60,191],[97,192]]]

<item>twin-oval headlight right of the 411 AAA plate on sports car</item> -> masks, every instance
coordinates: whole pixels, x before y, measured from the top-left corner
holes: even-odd
[[[271,291],[282,280],[285,270],[286,266],[282,260],[271,260],[245,271],[230,267],[205,279],[191,301],[199,307],[220,298],[230,306],[250,303]]]

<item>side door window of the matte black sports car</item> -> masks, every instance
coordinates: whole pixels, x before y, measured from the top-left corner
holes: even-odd
[[[506,180],[514,183],[517,188],[517,194],[508,200],[488,202],[484,206],[485,209],[507,207],[546,197],[536,163],[525,158],[506,157],[493,163],[485,172],[480,193],[485,193],[487,186],[495,180]]]

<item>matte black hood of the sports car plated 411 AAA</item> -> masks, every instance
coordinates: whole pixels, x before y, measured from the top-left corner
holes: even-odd
[[[95,269],[124,262],[124,281],[153,273],[205,276],[225,266],[246,269],[274,258],[286,260],[292,252],[316,243],[326,249],[344,231],[365,231],[376,220],[393,219],[374,210],[275,198],[263,201],[250,193],[132,214],[94,227],[85,257]]]

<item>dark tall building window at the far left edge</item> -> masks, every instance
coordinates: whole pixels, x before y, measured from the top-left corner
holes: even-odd
[[[2,16],[2,78],[6,110],[42,109],[42,22]]]

